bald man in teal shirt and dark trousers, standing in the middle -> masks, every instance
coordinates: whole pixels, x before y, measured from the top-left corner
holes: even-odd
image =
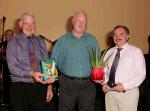
[[[91,63],[88,48],[98,49],[95,37],[86,33],[87,15],[78,11],[72,19],[73,31],[56,42],[51,59],[61,72],[59,78],[59,111],[94,111],[96,88],[90,79]]]

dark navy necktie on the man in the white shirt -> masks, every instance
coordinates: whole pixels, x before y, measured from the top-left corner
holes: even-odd
[[[117,48],[117,54],[114,58],[112,66],[111,66],[109,81],[107,83],[109,85],[109,87],[114,87],[115,86],[115,73],[116,73],[116,69],[117,69],[117,66],[118,66],[121,50],[122,50],[122,48]]]

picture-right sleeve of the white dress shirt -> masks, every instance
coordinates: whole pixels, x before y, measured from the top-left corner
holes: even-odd
[[[133,70],[131,70],[132,72],[130,75],[127,75],[129,79],[123,83],[125,90],[140,86],[146,77],[146,66],[143,53],[141,50],[137,50],[134,53]]]

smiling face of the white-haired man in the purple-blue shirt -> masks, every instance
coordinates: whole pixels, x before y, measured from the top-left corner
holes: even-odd
[[[25,16],[22,21],[20,21],[20,27],[22,28],[22,32],[26,36],[31,36],[35,31],[35,20],[31,16]]]

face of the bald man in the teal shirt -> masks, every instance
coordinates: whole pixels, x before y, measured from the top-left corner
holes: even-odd
[[[85,14],[79,13],[73,21],[74,32],[77,34],[83,34],[86,30],[86,24],[87,20]]]

